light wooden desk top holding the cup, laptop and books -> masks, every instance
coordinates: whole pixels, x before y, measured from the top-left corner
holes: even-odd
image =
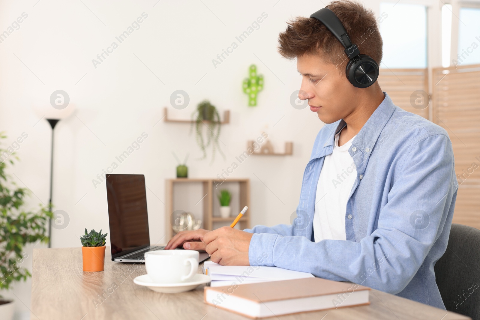
[[[34,249],[31,319],[249,319],[204,303],[203,286],[163,294],[133,283],[144,264],[112,262],[105,271],[83,272],[81,248]],[[199,268],[200,272],[200,268]],[[468,317],[372,290],[369,306],[279,316],[281,320],[460,320]],[[326,316],[325,316],[326,315]],[[276,319],[276,318],[270,318]]]

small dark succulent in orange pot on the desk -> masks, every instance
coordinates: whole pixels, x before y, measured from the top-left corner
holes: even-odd
[[[80,237],[84,271],[95,272],[105,269],[105,237],[107,234],[102,235],[102,229],[100,232],[92,229],[87,233],[85,228],[85,234]]]

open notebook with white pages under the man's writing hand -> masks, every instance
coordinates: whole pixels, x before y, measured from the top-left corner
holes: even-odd
[[[312,273],[261,266],[222,266],[213,261],[205,261],[204,274],[212,279],[211,286],[231,284],[252,284],[259,282],[313,278]]]

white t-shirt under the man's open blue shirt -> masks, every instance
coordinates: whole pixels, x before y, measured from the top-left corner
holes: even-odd
[[[340,147],[338,139],[339,133],[335,136],[333,153],[325,156],[318,179],[313,214],[315,242],[323,239],[346,239],[347,201],[357,177],[357,169],[348,149],[355,137]]]

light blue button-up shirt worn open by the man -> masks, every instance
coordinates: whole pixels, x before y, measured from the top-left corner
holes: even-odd
[[[445,309],[433,266],[447,246],[458,189],[447,132],[385,94],[348,150],[357,178],[346,213],[338,213],[345,214],[347,239],[315,243],[317,182],[344,126],[342,119],[318,133],[292,225],[244,230],[253,233],[250,264],[350,281]]]

